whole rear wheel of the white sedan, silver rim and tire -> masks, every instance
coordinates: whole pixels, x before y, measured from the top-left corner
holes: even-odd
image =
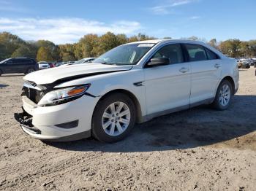
[[[225,110],[230,106],[233,98],[233,87],[227,79],[222,80],[217,89],[213,106],[217,110]]]

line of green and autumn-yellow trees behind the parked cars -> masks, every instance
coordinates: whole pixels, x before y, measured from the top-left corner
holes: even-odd
[[[127,37],[125,34],[113,34],[108,32],[99,36],[86,34],[74,44],[54,44],[48,40],[24,41],[19,36],[9,32],[0,33],[0,61],[6,58],[28,57],[37,61],[76,61],[81,58],[97,57],[104,52],[127,42],[137,42],[148,39],[157,39],[154,36],[138,34]],[[171,39],[165,37],[164,39]],[[197,36],[189,38],[206,42]],[[211,39],[206,42],[225,55],[233,58],[256,57],[256,40],[241,41],[239,39],[227,39],[217,42]]]

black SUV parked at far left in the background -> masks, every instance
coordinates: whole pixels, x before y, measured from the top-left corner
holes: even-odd
[[[12,73],[29,74],[37,70],[39,66],[32,58],[7,58],[0,62],[0,76]]]

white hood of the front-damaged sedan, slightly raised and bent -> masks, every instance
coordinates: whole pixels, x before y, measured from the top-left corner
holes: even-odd
[[[34,71],[27,74],[23,79],[29,82],[34,82],[37,85],[43,85],[56,81],[67,81],[71,79],[78,79],[80,77],[89,77],[116,71],[127,71],[130,69],[132,69],[132,66],[115,66],[101,63],[91,63],[86,65],[77,64]]]

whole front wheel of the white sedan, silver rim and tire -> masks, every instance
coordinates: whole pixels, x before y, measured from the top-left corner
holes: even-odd
[[[123,115],[121,116],[121,114]],[[92,135],[102,142],[120,141],[132,130],[135,119],[136,109],[131,98],[123,93],[108,95],[99,101],[94,109],[91,125]]]

